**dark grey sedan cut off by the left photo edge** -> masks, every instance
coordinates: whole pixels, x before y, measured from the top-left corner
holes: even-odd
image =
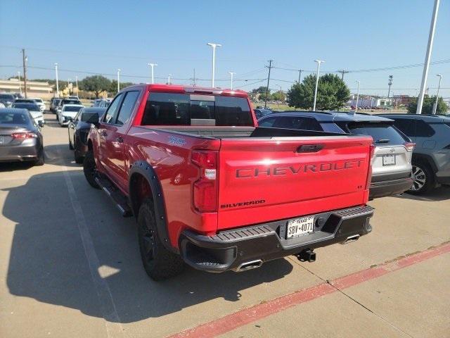
[[[0,109],[0,161],[44,164],[44,138],[26,109]]]

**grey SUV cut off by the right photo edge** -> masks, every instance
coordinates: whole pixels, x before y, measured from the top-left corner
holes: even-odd
[[[416,142],[411,194],[425,194],[450,184],[450,118],[441,115],[385,114]]]

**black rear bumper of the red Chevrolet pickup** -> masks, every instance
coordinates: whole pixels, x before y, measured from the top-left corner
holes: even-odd
[[[291,239],[285,239],[288,220],[228,230],[214,236],[185,230],[179,248],[184,261],[198,270],[217,273],[237,270],[246,262],[264,263],[368,234],[372,230],[369,224],[372,215],[371,206],[320,213],[315,215],[314,232]]]

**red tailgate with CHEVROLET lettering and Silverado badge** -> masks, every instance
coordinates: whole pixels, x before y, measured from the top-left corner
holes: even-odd
[[[371,137],[221,139],[218,230],[366,203]]]

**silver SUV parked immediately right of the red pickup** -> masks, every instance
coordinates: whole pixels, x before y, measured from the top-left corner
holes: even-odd
[[[394,121],[361,113],[291,111],[267,115],[261,127],[345,132],[371,136],[375,144],[369,199],[401,194],[411,188],[414,144],[394,127]]]

